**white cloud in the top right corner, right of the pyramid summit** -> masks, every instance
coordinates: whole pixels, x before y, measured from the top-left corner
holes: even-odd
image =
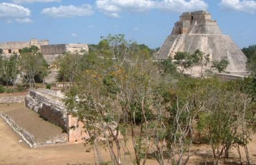
[[[222,0],[220,3],[223,9],[244,11],[247,13],[256,13],[256,1],[253,0]]]

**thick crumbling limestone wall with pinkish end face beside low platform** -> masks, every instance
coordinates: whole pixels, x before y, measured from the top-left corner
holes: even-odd
[[[55,90],[30,90],[25,105],[39,113],[42,118],[62,127],[68,134],[69,143],[81,143],[89,138],[83,123],[67,113],[63,102],[64,94]]]

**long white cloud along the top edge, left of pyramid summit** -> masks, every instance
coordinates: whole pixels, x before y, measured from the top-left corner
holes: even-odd
[[[146,13],[152,9],[183,12],[205,10],[208,5],[203,0],[96,0],[99,10],[109,16],[119,17],[122,11]]]

